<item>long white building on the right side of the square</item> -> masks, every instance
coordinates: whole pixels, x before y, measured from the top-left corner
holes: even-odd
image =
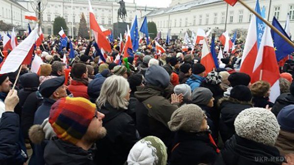
[[[185,3],[182,3],[182,2]],[[168,30],[172,35],[183,37],[187,30],[196,32],[202,29],[224,29],[227,3],[223,0],[172,0],[171,7],[159,9],[147,14],[148,21],[154,21],[157,31],[161,31],[162,38]],[[251,8],[255,8],[256,0],[244,0]],[[275,16],[282,26],[285,26],[287,13],[290,14],[291,34],[294,34],[294,0],[259,0],[260,6],[266,8],[266,19],[272,21]],[[180,4],[178,4],[180,3]],[[270,6],[270,12],[269,12]],[[252,13],[241,3],[228,6],[227,30],[248,29]]]

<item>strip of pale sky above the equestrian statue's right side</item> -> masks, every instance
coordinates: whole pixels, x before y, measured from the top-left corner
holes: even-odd
[[[134,0],[124,0],[125,2],[133,2]],[[135,0],[135,3],[139,6],[150,7],[168,7],[172,0]]]

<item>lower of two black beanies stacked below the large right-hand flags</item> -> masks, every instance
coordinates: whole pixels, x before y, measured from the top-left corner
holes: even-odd
[[[252,99],[252,94],[247,86],[237,85],[231,90],[230,97],[242,102],[250,102]]]

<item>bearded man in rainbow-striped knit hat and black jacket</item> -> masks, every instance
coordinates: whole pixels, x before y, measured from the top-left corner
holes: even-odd
[[[81,97],[66,97],[54,103],[49,123],[58,139],[50,140],[45,147],[46,165],[92,165],[91,147],[106,135],[103,118],[94,103]]]

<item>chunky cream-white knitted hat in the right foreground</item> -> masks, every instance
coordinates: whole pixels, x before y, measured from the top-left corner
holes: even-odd
[[[265,108],[256,107],[240,112],[234,126],[238,136],[270,146],[274,146],[280,131],[274,114]]]

